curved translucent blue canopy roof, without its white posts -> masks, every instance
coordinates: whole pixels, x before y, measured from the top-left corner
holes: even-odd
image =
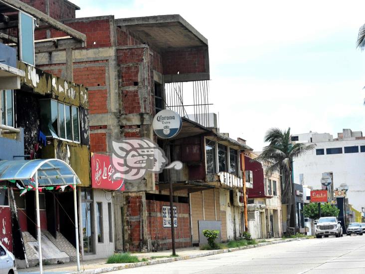
[[[20,180],[27,186],[38,172],[39,186],[72,185],[76,173],[59,159],[0,161],[0,181]],[[80,184],[76,175],[76,184]]]

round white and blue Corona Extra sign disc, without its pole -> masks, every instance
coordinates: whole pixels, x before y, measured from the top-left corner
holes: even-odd
[[[168,139],[179,134],[183,121],[178,113],[170,109],[161,110],[156,114],[152,127],[157,136]]]

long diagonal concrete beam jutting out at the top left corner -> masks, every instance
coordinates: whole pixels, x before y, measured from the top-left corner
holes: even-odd
[[[18,8],[36,18],[38,18],[39,20],[51,25],[53,28],[58,29],[60,31],[63,31],[65,33],[67,33],[68,35],[74,37],[75,39],[78,39],[80,41],[86,41],[86,35],[69,27],[66,26],[64,24],[62,24],[61,22],[57,21],[56,19],[53,19],[52,17],[49,17],[47,14],[44,14],[43,12],[39,11],[38,9],[27,5],[19,0],[0,0],[1,2]]]

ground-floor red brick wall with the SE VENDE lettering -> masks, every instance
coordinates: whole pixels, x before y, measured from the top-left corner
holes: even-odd
[[[164,228],[163,226],[163,206],[170,206],[170,203],[153,200],[146,201],[148,232],[151,236],[152,243],[156,241],[155,243],[159,250],[172,249],[171,228]],[[174,203],[174,206],[177,207],[178,211],[178,227],[175,228],[175,239],[187,240],[187,242],[176,242],[176,248],[191,247],[189,204]],[[179,217],[181,214],[184,214],[185,217]],[[168,243],[159,242],[163,240],[170,241]]]

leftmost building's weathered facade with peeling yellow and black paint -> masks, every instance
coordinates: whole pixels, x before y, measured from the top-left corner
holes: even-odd
[[[0,13],[4,20],[0,24],[0,161],[61,159],[76,172],[81,186],[90,186],[87,88],[35,65],[34,53],[48,47],[48,42],[34,40],[34,22],[38,19],[65,31],[72,36],[65,39],[68,42],[82,44],[84,35],[16,1],[2,1]],[[20,195],[24,190],[20,181],[0,184],[4,220],[0,229],[5,232],[0,240],[13,252],[18,267],[34,266],[38,263],[35,191]],[[48,263],[76,259],[73,193],[71,187],[61,189],[39,189],[41,242],[47,247],[43,260]]]

